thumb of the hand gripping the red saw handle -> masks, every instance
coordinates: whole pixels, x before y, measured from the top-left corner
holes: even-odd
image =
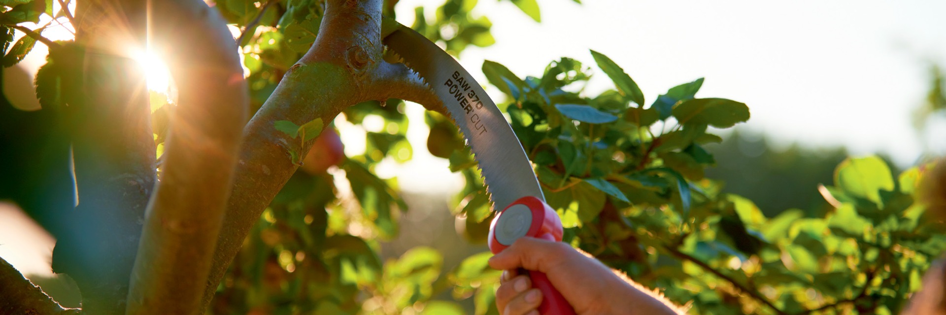
[[[529,236],[519,237],[512,246],[489,258],[496,270],[524,268],[549,272],[554,266],[578,254],[569,244]]]

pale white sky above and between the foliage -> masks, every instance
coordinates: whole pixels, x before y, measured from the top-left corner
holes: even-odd
[[[561,57],[598,71],[587,51],[594,49],[622,65],[648,104],[676,84],[705,77],[697,96],[745,102],[752,117],[744,127],[764,132],[777,144],[846,146],[855,155],[885,152],[900,166],[914,164],[924,149],[946,154],[946,119],[932,121],[925,138],[911,126],[911,114],[928,89],[928,62],[946,64],[946,19],[941,16],[946,2],[583,2],[540,1],[539,24],[509,1],[481,0],[474,13],[493,22],[496,44],[471,46],[460,62],[485,83],[483,60],[498,61],[520,77],[539,76],[550,61]],[[401,0],[398,21],[411,25],[418,5],[427,6],[432,19],[432,8],[442,3]],[[39,51],[44,48],[37,45]],[[44,55],[31,54],[24,62],[37,67]],[[594,94],[609,88],[610,80],[598,73],[587,90]],[[487,92],[502,99],[495,88]],[[397,176],[405,190],[447,196],[460,189],[463,180],[449,172],[447,160],[426,150],[427,128],[419,123],[423,109],[409,104],[407,110],[418,122],[408,131],[414,159],[406,165],[386,162],[377,168],[378,175]],[[346,152],[363,150],[364,130],[341,119],[336,122]],[[9,206],[0,205],[0,256],[18,251],[20,237],[52,242],[43,233],[14,229],[26,229],[17,222],[28,219],[12,213]],[[29,253],[11,263],[48,272],[43,265],[48,250],[26,250]]]

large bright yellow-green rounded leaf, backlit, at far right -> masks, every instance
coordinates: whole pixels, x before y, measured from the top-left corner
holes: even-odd
[[[853,197],[873,201],[883,207],[880,191],[894,189],[890,167],[877,156],[848,158],[834,170],[834,185]]]

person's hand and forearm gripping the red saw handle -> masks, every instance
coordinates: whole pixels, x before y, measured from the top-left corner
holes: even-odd
[[[505,270],[496,291],[503,315],[538,315],[543,297],[519,268],[545,272],[578,314],[676,314],[674,306],[562,242],[521,237],[489,265]]]

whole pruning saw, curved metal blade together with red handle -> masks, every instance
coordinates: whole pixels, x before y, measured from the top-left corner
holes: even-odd
[[[493,210],[501,209],[489,227],[490,251],[498,254],[522,236],[561,241],[562,222],[545,202],[529,157],[480,83],[446,51],[411,27],[398,24],[384,38],[384,44],[443,101],[479,163]],[[528,273],[534,287],[542,291],[541,314],[574,314],[545,273]]]

